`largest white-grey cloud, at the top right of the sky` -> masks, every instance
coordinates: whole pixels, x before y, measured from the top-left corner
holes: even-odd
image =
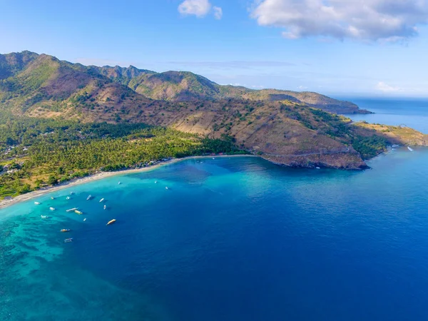
[[[428,0],[255,0],[251,16],[288,39],[402,41],[428,24]]]

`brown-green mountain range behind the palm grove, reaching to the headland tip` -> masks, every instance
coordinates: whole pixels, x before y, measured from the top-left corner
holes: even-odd
[[[409,128],[354,124],[327,111],[366,112],[318,93],[220,86],[184,71],[83,66],[29,51],[0,55],[0,112],[13,116],[228,137],[245,151],[303,167],[365,168],[364,159],[387,142],[427,143]]]

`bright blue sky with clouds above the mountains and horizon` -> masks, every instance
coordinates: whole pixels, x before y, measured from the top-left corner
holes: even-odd
[[[2,54],[186,70],[250,88],[428,96],[426,0],[0,0],[0,8]]]

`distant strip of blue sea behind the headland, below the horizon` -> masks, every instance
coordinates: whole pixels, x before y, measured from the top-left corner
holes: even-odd
[[[428,134],[428,99],[347,98],[374,114],[347,115],[355,121],[409,126]]]

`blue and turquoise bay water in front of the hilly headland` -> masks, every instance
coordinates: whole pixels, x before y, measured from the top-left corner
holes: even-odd
[[[0,320],[428,320],[428,149],[370,166],[191,159],[0,210]]]

